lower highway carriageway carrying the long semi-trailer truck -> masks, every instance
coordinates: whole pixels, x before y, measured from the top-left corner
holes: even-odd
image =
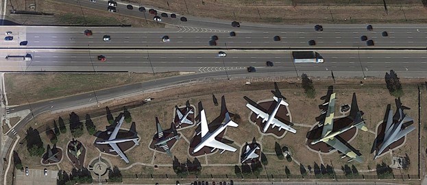
[[[17,53],[21,50],[17,50]],[[165,71],[209,72],[225,69],[245,69],[247,66],[267,71],[412,71],[427,68],[425,51],[322,51],[325,62],[295,64],[291,51],[285,50],[49,50],[34,49],[32,61],[0,60],[5,71],[135,71],[156,73]],[[25,51],[23,51],[25,53]],[[105,56],[101,62],[97,56]],[[0,56],[3,58],[3,56]],[[273,62],[267,67],[266,62]],[[153,69],[151,69],[151,66]],[[210,68],[210,69],[207,69]]]

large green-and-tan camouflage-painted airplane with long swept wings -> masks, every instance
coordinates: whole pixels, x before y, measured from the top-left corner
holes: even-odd
[[[350,157],[351,159],[347,162],[351,162],[352,160],[356,160],[357,162],[362,162],[361,154],[356,151],[356,149],[352,147],[347,147],[343,142],[341,142],[342,139],[339,139],[339,134],[346,132],[347,130],[352,129],[353,127],[357,127],[358,129],[361,129],[363,131],[367,131],[367,127],[365,126],[365,121],[362,119],[361,112],[358,111],[357,108],[357,101],[356,101],[356,93],[353,93],[353,99],[352,99],[352,111],[350,111],[350,116],[352,113],[355,113],[354,115],[354,123],[351,125],[348,125],[346,127],[341,128],[340,130],[333,131],[334,127],[334,112],[335,112],[335,93],[332,93],[330,95],[329,103],[328,103],[328,110],[326,112],[326,118],[323,125],[323,130],[321,132],[321,137],[313,140],[311,142],[311,145],[315,145],[319,142],[324,142],[334,149],[337,149],[343,155],[341,158],[345,158],[345,156]]]

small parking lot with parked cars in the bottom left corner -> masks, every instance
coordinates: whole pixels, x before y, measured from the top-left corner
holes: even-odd
[[[57,177],[58,177],[58,171],[47,171],[47,175],[45,175],[43,170],[30,168],[28,176],[25,176],[25,170],[16,171],[15,180],[16,180],[16,185],[26,185],[26,184],[55,185]]]

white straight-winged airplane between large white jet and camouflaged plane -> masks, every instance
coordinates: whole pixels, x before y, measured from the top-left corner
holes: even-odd
[[[267,112],[259,110],[258,108],[252,106],[250,103],[247,103],[246,106],[247,108],[252,110],[252,112],[258,115],[256,116],[256,119],[261,117],[263,119],[262,122],[263,123],[265,122],[263,133],[267,132],[267,130],[269,129],[269,125],[271,125],[271,128],[279,127],[279,131],[284,129],[289,132],[296,133],[297,131],[293,129],[293,127],[290,127],[289,125],[282,123],[282,121],[279,121],[278,119],[274,118],[274,116],[276,116],[276,113],[278,112],[281,105],[289,106],[289,104],[286,103],[286,101],[284,101],[284,97],[280,94],[279,88],[276,83],[274,83],[274,86],[276,88],[276,91],[271,90],[271,92],[274,94],[273,99],[278,103],[276,103],[276,107],[274,108],[273,112],[271,112],[271,114],[267,114]],[[249,98],[245,97],[245,99],[249,99]]]

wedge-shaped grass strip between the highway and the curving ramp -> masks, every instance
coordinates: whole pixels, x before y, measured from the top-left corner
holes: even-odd
[[[178,72],[132,74],[6,74],[9,105],[53,99],[92,90],[171,77]]]

